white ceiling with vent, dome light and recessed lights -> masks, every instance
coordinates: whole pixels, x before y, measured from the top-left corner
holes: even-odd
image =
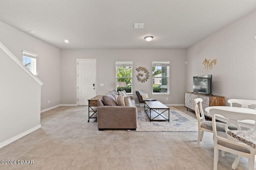
[[[175,49],[254,10],[256,0],[0,0],[0,21],[60,49]]]

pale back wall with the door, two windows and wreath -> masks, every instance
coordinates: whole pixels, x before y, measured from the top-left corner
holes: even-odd
[[[150,98],[164,104],[184,104],[186,90],[185,49],[124,49],[124,50],[61,50],[61,104],[76,104],[76,59],[97,60],[97,95],[116,88],[115,61],[133,61],[133,96],[143,89]],[[170,61],[170,95],[152,95],[152,75],[147,82],[137,81],[136,67],[152,72],[152,61]],[[100,86],[104,84],[104,86]],[[168,98],[168,100],[166,100]],[[137,99],[137,98],[136,98]],[[138,100],[136,101],[138,103]]]

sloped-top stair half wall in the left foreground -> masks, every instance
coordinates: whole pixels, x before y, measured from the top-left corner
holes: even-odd
[[[41,127],[41,85],[1,49],[0,59],[0,147],[3,147]]]

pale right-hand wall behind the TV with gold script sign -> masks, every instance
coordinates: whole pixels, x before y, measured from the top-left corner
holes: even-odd
[[[256,100],[256,11],[235,21],[187,50],[187,86],[192,77],[212,74],[212,94]],[[217,59],[212,70],[204,70],[204,59]]]

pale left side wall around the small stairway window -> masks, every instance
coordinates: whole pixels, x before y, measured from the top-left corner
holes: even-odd
[[[41,89],[41,110],[59,105],[60,49],[1,21],[0,41],[20,61],[22,61],[22,50],[38,54],[37,77],[44,83]],[[50,104],[48,104],[48,100],[50,100]]]

